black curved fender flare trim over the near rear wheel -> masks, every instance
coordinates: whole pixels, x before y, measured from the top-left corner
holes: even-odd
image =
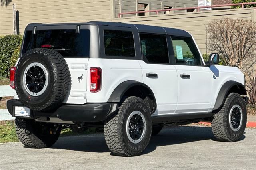
[[[111,103],[118,103],[121,101],[124,93],[130,89],[131,87],[134,86],[143,86],[146,87],[153,95],[154,101],[156,101],[155,95],[153,93],[153,91],[150,89],[150,87],[148,87],[147,85],[145,85],[144,83],[141,83],[139,81],[136,80],[128,80],[128,81],[124,81],[122,83],[120,83],[112,92],[112,94],[110,95],[108,102]]]

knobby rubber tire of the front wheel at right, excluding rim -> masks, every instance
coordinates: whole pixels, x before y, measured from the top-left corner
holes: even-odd
[[[229,123],[229,112],[234,105],[239,105],[242,109],[242,125],[238,131],[232,130]],[[235,142],[244,134],[246,121],[246,103],[244,99],[238,93],[230,93],[223,107],[214,115],[212,120],[212,132],[214,137],[223,142]]]

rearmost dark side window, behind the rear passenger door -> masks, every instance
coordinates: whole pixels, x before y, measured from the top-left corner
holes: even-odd
[[[108,56],[135,56],[133,34],[130,31],[104,30],[104,46]]]

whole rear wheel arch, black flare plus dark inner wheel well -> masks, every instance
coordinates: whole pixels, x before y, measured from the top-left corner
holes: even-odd
[[[149,104],[151,114],[156,110],[156,98],[148,85],[136,80],[128,80],[120,83],[110,95],[108,102],[119,103],[126,97],[136,96],[144,99]]]

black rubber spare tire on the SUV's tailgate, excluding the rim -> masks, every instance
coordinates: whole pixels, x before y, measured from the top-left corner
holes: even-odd
[[[46,90],[39,96],[30,95],[23,82],[26,67],[34,62],[44,65],[49,74]],[[17,95],[26,107],[36,111],[52,110],[62,104],[71,89],[70,71],[60,53],[52,49],[32,49],[18,61],[15,85]]]

